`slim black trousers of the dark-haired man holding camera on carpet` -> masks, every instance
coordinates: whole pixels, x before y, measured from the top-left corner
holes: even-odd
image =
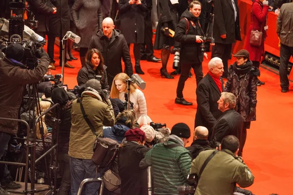
[[[195,78],[196,78],[196,85],[198,85],[199,81],[203,78],[203,66],[201,63],[182,63],[181,64],[181,75],[178,80],[177,85],[177,98],[183,98],[183,89],[185,85],[185,81],[188,79],[190,68],[193,68]]]

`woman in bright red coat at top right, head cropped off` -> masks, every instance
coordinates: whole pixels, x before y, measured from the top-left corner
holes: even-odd
[[[245,49],[250,53],[250,59],[255,68],[259,68],[259,64],[265,56],[265,46],[264,40],[267,37],[267,16],[268,16],[269,3],[267,0],[253,0],[252,12],[251,12],[251,25],[247,31],[247,39]],[[263,40],[260,46],[251,46],[250,35],[251,31],[254,30],[261,31],[263,33]],[[265,84],[257,79],[257,86]]]

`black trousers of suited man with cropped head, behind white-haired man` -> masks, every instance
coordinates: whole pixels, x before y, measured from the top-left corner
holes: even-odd
[[[232,44],[216,43],[212,47],[211,58],[218,57],[222,59],[224,65],[224,77],[228,77],[228,60],[231,54]]]

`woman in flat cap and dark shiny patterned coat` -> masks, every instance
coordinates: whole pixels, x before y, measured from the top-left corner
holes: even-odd
[[[259,70],[252,66],[249,59],[249,52],[245,49],[239,50],[234,57],[236,62],[229,67],[225,91],[236,96],[236,111],[243,118],[243,130],[240,141],[239,153],[242,156],[242,149],[246,141],[247,129],[251,121],[256,120],[256,91],[257,76]]]

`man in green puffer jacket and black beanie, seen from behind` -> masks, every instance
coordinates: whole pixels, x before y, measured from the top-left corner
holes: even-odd
[[[167,140],[156,144],[140,162],[142,169],[152,166],[156,195],[179,195],[177,186],[186,184],[191,156],[184,146],[189,137],[187,124],[175,124]]]

